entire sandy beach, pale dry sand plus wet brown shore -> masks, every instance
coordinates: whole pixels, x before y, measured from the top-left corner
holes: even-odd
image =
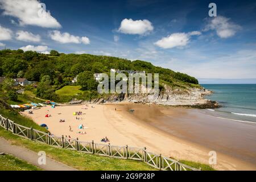
[[[156,154],[205,164],[209,151],[213,150],[217,152],[217,165],[213,166],[216,169],[256,169],[256,124],[233,122],[212,117],[203,110],[179,107],[120,104],[84,108],[82,105],[54,109],[47,106],[34,110],[34,114],[27,111],[22,114],[39,125],[45,123],[56,136],[70,135],[96,143],[108,137],[113,145],[146,147]],[[135,111],[130,113],[129,109]],[[73,115],[76,111],[82,115]],[[51,117],[46,118],[46,114]],[[60,119],[65,122],[60,123]],[[78,128],[81,124],[85,129]]]

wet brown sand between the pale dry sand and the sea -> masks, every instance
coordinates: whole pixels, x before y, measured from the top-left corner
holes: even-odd
[[[133,104],[118,107],[134,109],[130,117],[169,135],[256,166],[256,123],[217,118],[199,109]]]

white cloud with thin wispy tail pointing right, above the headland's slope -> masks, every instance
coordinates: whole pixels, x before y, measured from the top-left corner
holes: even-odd
[[[187,34],[174,33],[167,36],[166,38],[162,38],[158,40],[154,44],[164,49],[174,48],[174,47],[184,47],[184,46],[187,46],[192,35],[201,35],[201,32],[192,31],[192,32],[188,32]]]

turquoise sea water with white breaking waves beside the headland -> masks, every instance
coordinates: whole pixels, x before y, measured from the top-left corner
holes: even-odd
[[[222,106],[207,110],[216,117],[256,122],[256,84],[201,84],[214,93],[208,99]]]

